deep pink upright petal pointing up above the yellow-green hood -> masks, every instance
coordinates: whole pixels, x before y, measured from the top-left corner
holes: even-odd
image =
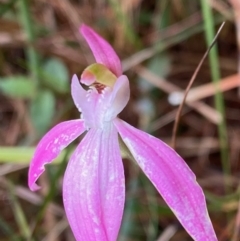
[[[122,74],[122,66],[119,57],[112,46],[93,29],[83,24],[80,32],[91,48],[97,63],[104,64],[117,77]]]

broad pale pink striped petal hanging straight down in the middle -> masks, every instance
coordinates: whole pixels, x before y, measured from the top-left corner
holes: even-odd
[[[73,153],[63,202],[78,241],[116,241],[125,199],[118,134],[112,124],[91,129]]]

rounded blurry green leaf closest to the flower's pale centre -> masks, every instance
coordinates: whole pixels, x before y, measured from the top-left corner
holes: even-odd
[[[56,58],[49,59],[42,68],[43,82],[58,93],[69,91],[69,73],[65,64]]]

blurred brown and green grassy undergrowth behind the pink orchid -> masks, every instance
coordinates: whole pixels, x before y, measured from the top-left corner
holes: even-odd
[[[179,100],[219,26],[171,142]],[[240,240],[239,0],[0,0],[0,240],[73,241],[62,177],[77,140],[27,186],[34,146],[79,118],[73,74],[94,58],[88,24],[114,47],[131,84],[120,117],[162,139],[204,189],[220,241]],[[139,168],[124,156],[126,205],[119,241],[192,240]]]

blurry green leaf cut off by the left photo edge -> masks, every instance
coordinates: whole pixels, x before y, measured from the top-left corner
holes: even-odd
[[[9,76],[0,78],[0,91],[9,97],[30,99],[36,93],[36,86],[27,76]]]

